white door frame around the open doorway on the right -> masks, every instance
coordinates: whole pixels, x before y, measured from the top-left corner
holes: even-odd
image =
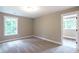
[[[63,13],[63,14],[61,14],[61,43],[63,44],[63,16],[66,16],[66,15],[72,15],[72,14],[77,14],[77,17],[79,17],[79,11],[74,11],[74,12],[67,12],[67,13]],[[77,19],[78,20],[78,19]],[[77,33],[76,33],[76,41],[78,40],[78,38],[77,38]],[[78,41],[77,41],[78,42]],[[76,48],[77,49],[79,49],[79,47],[78,47],[78,44],[79,44],[79,42],[77,43],[77,45],[76,45]]]

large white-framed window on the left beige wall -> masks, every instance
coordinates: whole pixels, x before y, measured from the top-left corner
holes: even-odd
[[[18,34],[18,19],[16,17],[4,16],[4,35]]]

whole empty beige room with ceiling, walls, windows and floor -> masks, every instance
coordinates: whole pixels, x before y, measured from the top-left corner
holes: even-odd
[[[78,52],[78,6],[0,6],[0,53]]]

